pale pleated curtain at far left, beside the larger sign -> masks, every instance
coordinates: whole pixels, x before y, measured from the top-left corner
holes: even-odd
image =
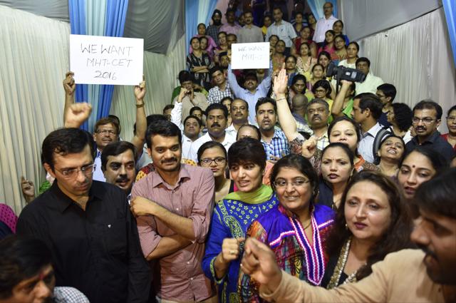
[[[66,22],[0,6],[0,202],[17,214],[21,175],[38,190],[41,143],[63,125],[69,34]]]

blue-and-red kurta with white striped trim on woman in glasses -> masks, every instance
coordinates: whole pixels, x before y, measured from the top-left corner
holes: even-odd
[[[311,214],[312,244],[298,218],[277,205],[252,222],[247,236],[266,243],[276,255],[276,262],[285,272],[314,285],[319,285],[327,258],[325,242],[333,224],[334,212],[326,205],[314,205]],[[242,272],[239,275],[240,302],[264,302],[258,285]]]

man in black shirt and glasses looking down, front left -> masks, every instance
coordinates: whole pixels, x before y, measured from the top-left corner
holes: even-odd
[[[92,135],[63,128],[43,141],[41,162],[52,187],[21,212],[17,232],[46,242],[56,285],[90,302],[147,302],[150,269],[125,192],[92,180]]]

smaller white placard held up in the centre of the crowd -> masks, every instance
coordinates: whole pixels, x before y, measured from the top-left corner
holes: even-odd
[[[231,68],[269,68],[269,42],[232,44]]]

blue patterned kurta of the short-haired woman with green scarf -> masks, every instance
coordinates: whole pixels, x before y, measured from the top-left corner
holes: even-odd
[[[219,302],[239,302],[237,281],[241,265],[244,245],[241,245],[239,258],[230,263],[227,274],[222,279],[215,277],[214,260],[222,252],[222,242],[225,238],[245,237],[247,228],[257,220],[259,215],[271,210],[277,205],[275,193],[269,200],[259,204],[249,204],[238,200],[222,200],[214,209],[211,227],[206,242],[206,251],[202,260],[204,274],[219,284]]]

